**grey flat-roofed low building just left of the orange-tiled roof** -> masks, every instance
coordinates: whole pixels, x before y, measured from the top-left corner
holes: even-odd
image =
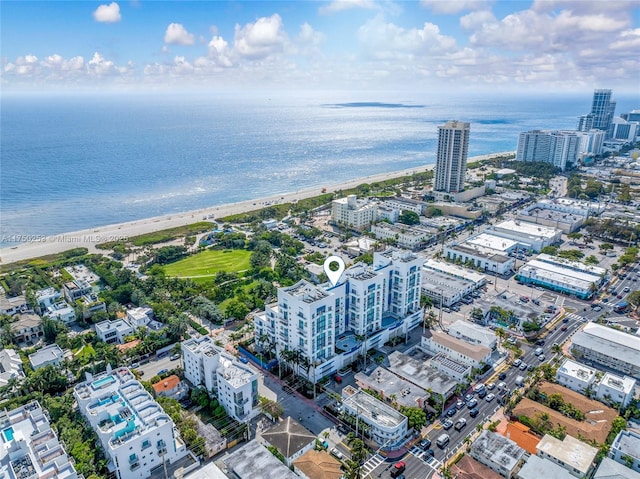
[[[502,477],[512,479],[516,468],[526,458],[526,452],[510,439],[484,429],[473,441],[469,455]]]

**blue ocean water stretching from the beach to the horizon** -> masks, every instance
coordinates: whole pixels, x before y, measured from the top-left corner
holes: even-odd
[[[617,113],[638,108],[618,97]],[[249,200],[435,161],[437,126],[471,122],[469,155],[575,128],[590,95],[6,95],[0,245]]]

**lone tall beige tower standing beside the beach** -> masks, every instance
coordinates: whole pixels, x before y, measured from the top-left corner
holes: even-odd
[[[436,180],[434,190],[459,193],[464,190],[470,124],[448,121],[438,127]]]

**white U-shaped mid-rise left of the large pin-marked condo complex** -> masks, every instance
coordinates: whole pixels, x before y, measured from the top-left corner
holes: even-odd
[[[258,414],[258,374],[214,344],[210,336],[182,343],[184,377],[215,394],[227,414],[247,421]]]

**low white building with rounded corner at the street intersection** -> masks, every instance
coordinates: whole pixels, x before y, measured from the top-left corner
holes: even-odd
[[[342,406],[345,413],[357,418],[360,427],[369,428],[369,436],[380,446],[397,448],[404,444],[407,417],[391,406],[351,386],[342,390]]]

